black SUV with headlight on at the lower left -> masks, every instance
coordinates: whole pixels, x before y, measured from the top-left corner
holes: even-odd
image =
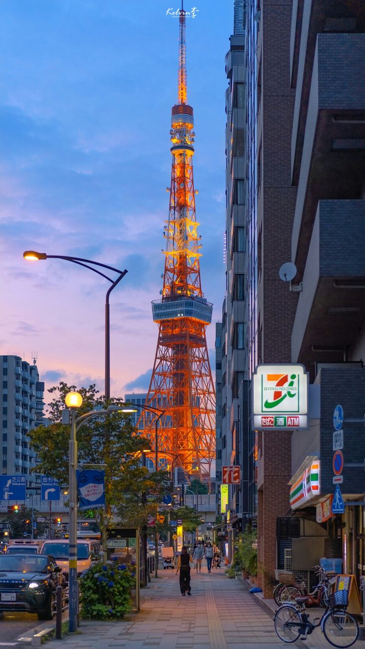
[[[38,613],[51,620],[56,609],[56,587],[65,586],[62,569],[45,554],[0,556],[0,611]]]

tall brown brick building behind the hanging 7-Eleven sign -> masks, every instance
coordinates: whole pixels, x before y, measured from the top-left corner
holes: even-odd
[[[257,489],[258,560],[264,596],[276,568],[277,517],[289,509],[290,433],[252,426],[252,374],[259,363],[290,361],[298,293],[279,278],[290,261],[296,188],[290,169],[294,91],[290,88],[292,0],[248,0],[246,22],[246,235],[250,515]]]

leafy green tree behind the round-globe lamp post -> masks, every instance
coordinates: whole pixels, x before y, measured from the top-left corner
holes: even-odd
[[[59,386],[49,389],[54,395],[49,404],[51,426],[39,426],[30,431],[32,447],[40,462],[36,471],[56,478],[60,485],[68,485],[69,467],[69,426],[62,424],[62,410],[65,408],[65,395],[78,391],[83,398],[77,415],[101,410],[104,398],[99,397],[95,385],[88,388]],[[113,402],[113,400],[112,400]],[[106,560],[106,539],[108,528],[112,526],[113,513],[126,505],[128,498],[143,490],[148,471],[140,466],[140,452],[146,442],[135,435],[130,415],[113,412],[108,416],[93,417],[86,421],[77,433],[78,465],[100,468],[105,471],[105,509],[95,509],[95,519],[102,533],[102,545]]]

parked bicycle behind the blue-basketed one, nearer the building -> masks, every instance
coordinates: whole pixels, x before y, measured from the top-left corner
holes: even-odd
[[[284,578],[286,577],[288,582],[291,582],[281,582],[276,585],[273,597],[277,606],[281,606],[284,602],[294,602],[296,597],[309,596],[311,600],[308,603],[311,606],[322,606],[325,608],[328,604],[329,578],[325,570],[320,566],[314,566],[313,570],[318,575],[319,582],[312,593],[308,593],[305,582],[297,580],[292,573],[277,570],[278,575]]]

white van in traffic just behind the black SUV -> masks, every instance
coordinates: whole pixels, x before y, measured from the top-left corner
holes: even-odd
[[[77,539],[77,574],[89,568],[95,561],[101,559],[99,541]],[[43,542],[41,554],[50,554],[56,564],[62,568],[66,579],[69,574],[69,541],[68,539]]]

